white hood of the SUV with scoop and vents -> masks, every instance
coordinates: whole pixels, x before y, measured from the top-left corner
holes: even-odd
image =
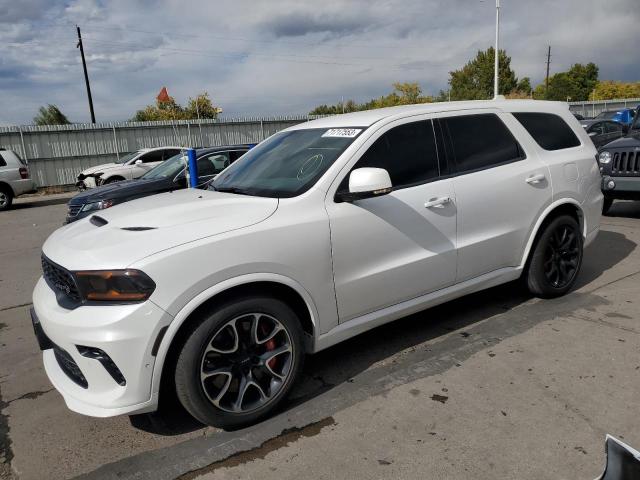
[[[66,225],[42,250],[69,270],[126,268],[162,250],[255,225],[277,208],[277,198],[177,190],[100,210],[94,216],[106,221],[101,226],[92,217]]]

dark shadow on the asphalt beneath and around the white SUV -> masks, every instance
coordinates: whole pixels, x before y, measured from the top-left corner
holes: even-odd
[[[603,272],[622,262],[636,247],[623,234],[603,231],[589,246],[575,288],[597,279]],[[290,410],[312,400],[373,365],[391,361],[399,353],[505,313],[532,297],[521,283],[511,282],[447,302],[377,327],[306,359],[302,376],[289,400],[280,410]],[[180,435],[203,428],[182,408],[177,398],[164,399],[161,410],[131,416],[131,424],[158,435]]]

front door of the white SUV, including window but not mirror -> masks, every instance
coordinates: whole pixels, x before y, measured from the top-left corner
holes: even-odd
[[[431,120],[404,119],[374,135],[342,174],[354,168],[389,172],[393,191],[337,202],[327,197],[340,321],[451,285],[456,273],[456,199],[440,178]]]

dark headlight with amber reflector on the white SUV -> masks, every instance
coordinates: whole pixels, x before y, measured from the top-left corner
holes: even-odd
[[[94,302],[143,302],[156,284],[140,270],[96,270],[75,272],[84,300]]]

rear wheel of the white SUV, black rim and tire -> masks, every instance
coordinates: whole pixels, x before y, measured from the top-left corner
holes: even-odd
[[[582,265],[583,239],[580,225],[569,215],[552,219],[539,234],[526,272],[529,291],[540,298],[567,293]]]

